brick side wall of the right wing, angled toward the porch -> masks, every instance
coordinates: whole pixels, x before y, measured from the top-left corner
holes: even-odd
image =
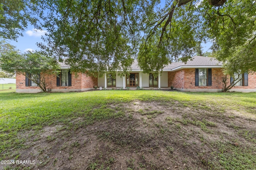
[[[168,72],[168,87],[184,88],[184,70]]]

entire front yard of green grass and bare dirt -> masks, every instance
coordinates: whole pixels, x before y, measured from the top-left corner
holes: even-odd
[[[256,93],[4,90],[0,169],[249,170],[255,129]]]

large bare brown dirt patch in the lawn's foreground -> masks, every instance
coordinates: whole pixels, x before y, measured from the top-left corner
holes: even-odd
[[[225,169],[223,155],[229,163],[228,155],[245,162],[236,155],[256,154],[256,119],[252,114],[185,105],[133,101],[109,106],[124,111],[125,115],[116,119],[83,125],[84,118],[78,117],[69,125],[44,127],[26,136],[27,147],[10,157],[34,160],[35,164],[0,166],[43,170]],[[255,162],[247,164],[253,167]]]

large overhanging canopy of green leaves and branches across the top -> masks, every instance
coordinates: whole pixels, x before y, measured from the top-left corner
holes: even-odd
[[[256,1],[166,0],[164,5],[160,0],[17,2],[23,5],[16,11],[24,14],[27,8],[32,8],[30,12],[42,9],[39,26],[48,35],[40,47],[47,55],[67,58],[75,71],[123,68],[126,72],[138,59],[144,72],[155,72],[178,59],[186,62],[197,45],[206,41],[212,41],[213,55],[225,63],[227,74],[256,71]]]

